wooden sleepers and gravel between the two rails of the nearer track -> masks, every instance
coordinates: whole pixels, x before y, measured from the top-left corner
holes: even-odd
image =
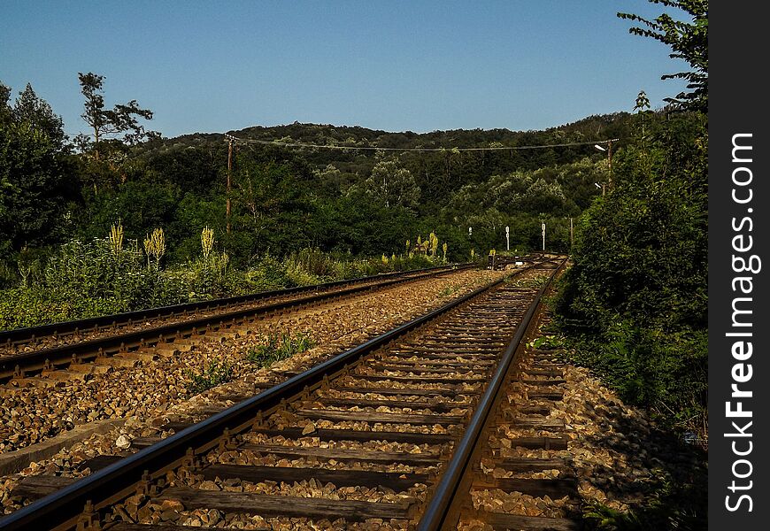
[[[274,517],[408,527],[534,296],[502,287],[467,303],[258,414],[240,432],[226,430],[216,444],[145,473],[135,494],[112,508],[87,504],[78,528],[252,525]],[[472,321],[467,327],[465,319]],[[482,325],[488,326],[480,334]],[[126,455],[161,443],[146,439],[136,438]],[[126,455],[83,465],[94,473],[119,466]],[[34,498],[70,481],[41,478],[19,488]]]

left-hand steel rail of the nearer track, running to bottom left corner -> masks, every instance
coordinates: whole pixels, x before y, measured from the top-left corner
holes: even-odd
[[[533,267],[535,265],[527,266],[506,278],[523,273]],[[17,512],[12,512],[12,514],[0,519],[0,530],[28,529],[36,531],[73,527],[87,503],[91,504],[89,506],[95,510],[99,510],[111,501],[129,495],[135,491],[138,482],[147,479],[147,471],[154,471],[150,474],[152,479],[161,477],[166,470],[180,464],[182,459],[191,457],[189,449],[192,449],[194,455],[212,448],[223,437],[223,434],[227,433],[226,429],[228,433],[233,434],[250,427],[255,418],[258,418],[259,413],[279,406],[281,401],[288,400],[292,396],[298,396],[306,390],[320,386],[324,377],[331,377],[335,373],[340,373],[366,354],[386,346],[427,322],[450,312],[460,304],[497,287],[504,281],[505,278],[499,279],[480,289],[475,289],[466,296],[444,304],[417,319],[412,319],[412,321],[347,350],[335,358],[328,359],[304,373],[297,374],[273,388],[266,389],[257,396],[235,404],[159,443],[121,459],[119,462],[65,487],[65,489],[60,489],[19,509]]]

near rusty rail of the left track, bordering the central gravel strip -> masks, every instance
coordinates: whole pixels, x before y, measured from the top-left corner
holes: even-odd
[[[74,361],[81,362],[97,358],[100,355],[115,354],[124,351],[137,350],[147,346],[166,342],[170,338],[195,335],[208,330],[210,327],[226,327],[227,324],[235,324],[240,319],[262,315],[270,312],[281,312],[304,304],[313,304],[328,299],[362,293],[371,289],[382,289],[396,284],[416,281],[427,277],[452,273],[457,269],[446,271],[434,271],[417,276],[407,276],[374,285],[354,286],[339,291],[329,291],[312,296],[284,301],[281,303],[267,304],[257,308],[236,310],[235,312],[220,313],[209,317],[190,319],[186,321],[162,325],[160,327],[143,328],[135,332],[108,335],[84,342],[65,344],[48,349],[35,350],[12,356],[0,358],[0,381],[7,381],[17,373],[40,371],[46,367],[66,366]]]

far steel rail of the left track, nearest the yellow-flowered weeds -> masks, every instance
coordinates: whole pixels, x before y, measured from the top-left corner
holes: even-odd
[[[91,317],[88,319],[60,321],[58,323],[40,325],[37,327],[13,328],[11,330],[0,331],[0,344],[22,343],[48,335],[74,334],[77,332],[88,331],[94,329],[95,327],[110,327],[121,324],[130,324],[135,321],[141,321],[144,319],[156,319],[158,317],[182,315],[190,312],[219,310],[220,308],[232,306],[235,304],[252,303],[273,297],[295,295],[297,293],[304,293],[306,291],[318,291],[320,289],[331,289],[338,288],[340,286],[360,284],[366,281],[378,281],[391,277],[407,276],[412,273],[428,273],[431,271],[452,268],[466,269],[474,266],[475,264],[458,264],[452,266],[426,267],[424,269],[414,269],[412,271],[399,271],[396,273],[384,273],[373,276],[358,277],[345,281],[324,282],[321,284],[314,284],[312,286],[298,286],[296,288],[288,289],[273,289],[270,291],[259,291],[257,293],[250,293],[246,295],[228,296],[211,299],[208,301],[199,301],[196,303],[172,304],[168,306],[158,306],[157,308],[135,310],[134,312],[113,313],[111,315]]]

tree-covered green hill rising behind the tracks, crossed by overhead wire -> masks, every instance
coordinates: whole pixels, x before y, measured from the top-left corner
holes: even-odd
[[[638,115],[615,113],[522,132],[389,133],[299,123],[228,131],[244,141],[235,142],[232,174],[234,222],[243,230],[238,231],[244,239],[243,256],[267,249],[283,253],[304,245],[354,254],[390,254],[418,233],[425,236],[436,230],[449,240],[450,256],[459,259],[471,248],[486,252],[489,249],[485,248],[501,247],[505,226],[512,227],[513,246],[535,247],[543,220],[553,225],[551,247],[566,249],[569,217],[590,204],[600,193],[595,183],[606,179],[606,153],[591,143],[531,150],[455,148],[550,146],[609,138],[629,142],[636,135],[638,121]],[[254,140],[277,144],[249,142]],[[286,143],[393,150],[281,145]],[[408,151],[415,148],[442,150]],[[172,234],[199,225],[222,232],[220,210],[227,172],[224,133],[144,142],[131,151],[130,158],[134,161],[130,171],[119,179],[140,182],[152,175],[153,182],[142,186],[156,189],[159,204],[167,202],[176,210],[195,212],[181,225],[173,221],[178,215],[172,216],[171,223],[158,219],[158,225],[170,227]],[[168,186],[160,188],[161,182]],[[126,184],[113,182],[110,188],[125,189]],[[143,201],[142,197],[122,200],[108,212],[133,210]],[[100,219],[93,235],[109,227],[110,219],[97,215]],[[131,220],[137,219],[138,224],[138,218],[147,223],[146,214],[128,216],[124,212],[122,217],[132,232],[135,223]],[[475,227],[474,241],[466,236],[468,227]],[[178,248],[185,249],[179,258],[194,248],[195,234],[180,235],[189,244]]]

